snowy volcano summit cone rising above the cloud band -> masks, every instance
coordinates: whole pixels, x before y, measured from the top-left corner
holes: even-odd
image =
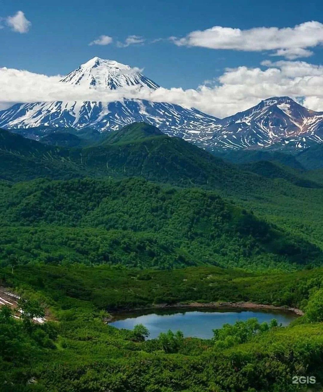
[[[104,60],[93,57],[88,62],[80,65],[61,82],[88,87],[90,89],[116,90],[122,87],[132,86],[137,91],[143,87],[158,89],[159,85],[146,78],[137,69],[129,65],[118,63],[115,60]]]

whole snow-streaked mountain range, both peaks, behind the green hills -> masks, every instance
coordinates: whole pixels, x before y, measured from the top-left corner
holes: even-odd
[[[62,78],[62,83],[88,89],[155,90],[159,85],[129,65],[94,57]],[[288,97],[274,97],[220,120],[197,109],[167,102],[123,99],[115,102],[71,101],[18,103],[0,111],[0,127],[91,127],[113,131],[147,122],[170,136],[205,149],[305,149],[323,143],[323,112],[314,112]],[[19,132],[16,130],[15,132]]]

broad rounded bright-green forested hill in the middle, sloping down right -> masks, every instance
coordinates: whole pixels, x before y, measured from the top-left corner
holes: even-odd
[[[321,263],[321,250],[217,193],[146,180],[34,180],[1,185],[2,265],[135,267]]]

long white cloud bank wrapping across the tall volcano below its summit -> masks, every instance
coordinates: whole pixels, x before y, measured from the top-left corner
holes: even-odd
[[[160,87],[155,91],[133,87],[106,91],[60,82],[62,76],[46,76],[16,69],[0,69],[0,102],[103,101],[146,99],[195,107],[225,117],[256,105],[271,96],[290,96],[309,109],[323,111],[323,66],[304,61],[264,61],[261,66],[225,69],[213,83],[198,89]]]

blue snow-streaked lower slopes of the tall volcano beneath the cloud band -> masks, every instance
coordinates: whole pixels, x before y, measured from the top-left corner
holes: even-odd
[[[201,131],[213,135],[218,119],[197,109],[166,102],[37,102],[16,104],[0,112],[0,127],[91,127],[102,132],[118,130],[133,122],[147,122],[170,136],[195,140]]]

